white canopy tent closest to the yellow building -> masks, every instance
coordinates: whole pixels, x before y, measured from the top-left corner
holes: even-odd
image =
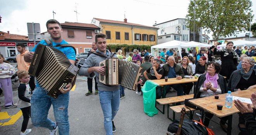
[[[158,49],[163,49],[163,48],[178,48],[178,51],[180,53],[180,56],[181,55],[181,47],[189,47],[189,45],[186,43],[186,42],[182,42],[182,41],[178,41],[178,40],[172,40],[172,41],[169,41],[169,42],[165,42],[165,43],[162,43],[162,44],[158,44],[156,46],[151,46],[151,53],[152,53],[152,56],[158,56],[157,53],[158,53]],[[155,51],[154,49],[157,49],[157,51]]]

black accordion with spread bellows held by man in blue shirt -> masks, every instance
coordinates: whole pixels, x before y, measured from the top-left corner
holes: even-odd
[[[28,72],[36,76],[47,95],[57,98],[61,94],[60,89],[71,82],[78,70],[58,49],[38,44]]]

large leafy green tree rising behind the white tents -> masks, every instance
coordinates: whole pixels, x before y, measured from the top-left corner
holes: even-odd
[[[190,0],[186,22],[190,30],[205,29],[208,34],[213,32],[213,39],[229,37],[245,31],[250,22],[251,0]]]

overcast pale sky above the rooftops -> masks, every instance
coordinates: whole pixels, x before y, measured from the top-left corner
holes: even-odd
[[[256,22],[256,0],[252,0]],[[41,33],[46,32],[49,19],[60,23],[90,24],[93,18],[123,21],[152,26],[155,21],[166,22],[185,18],[189,0],[0,0],[0,31],[28,35],[27,23],[40,23]],[[210,37],[211,35],[208,34]],[[244,35],[244,34],[243,34]]]

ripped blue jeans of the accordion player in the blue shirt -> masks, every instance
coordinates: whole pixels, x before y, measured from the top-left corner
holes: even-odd
[[[54,117],[58,124],[59,135],[69,135],[68,104],[69,93],[61,94],[56,99],[47,95],[47,92],[37,86],[31,97],[31,121],[36,127],[44,127],[49,130],[55,128],[55,123],[47,118],[48,111],[53,106]]]

